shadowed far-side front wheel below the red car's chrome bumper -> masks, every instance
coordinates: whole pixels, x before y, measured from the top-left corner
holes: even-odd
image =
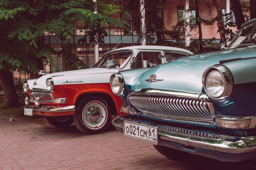
[[[68,127],[74,122],[73,118],[67,116],[46,116],[46,120],[57,128]]]

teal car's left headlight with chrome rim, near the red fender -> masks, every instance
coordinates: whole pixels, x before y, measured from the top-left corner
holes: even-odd
[[[124,78],[121,73],[112,74],[110,77],[110,86],[112,91],[121,96],[124,93]]]

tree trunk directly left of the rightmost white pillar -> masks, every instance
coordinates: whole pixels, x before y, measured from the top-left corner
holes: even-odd
[[[226,43],[226,36],[225,36],[225,32],[224,32],[224,24],[222,22],[222,2],[221,0],[213,0],[213,4],[217,9],[217,26],[219,29],[219,33],[220,33],[220,43],[225,42]]]

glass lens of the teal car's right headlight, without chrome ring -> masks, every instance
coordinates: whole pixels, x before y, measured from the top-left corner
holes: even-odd
[[[225,90],[224,77],[217,70],[210,71],[205,79],[205,87],[210,96],[220,97]]]

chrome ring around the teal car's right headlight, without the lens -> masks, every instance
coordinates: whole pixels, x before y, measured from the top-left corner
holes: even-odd
[[[224,78],[224,84],[225,84],[224,92],[219,97],[212,96],[207,91],[207,88],[206,88],[206,85],[205,85],[207,75],[213,70],[218,71]],[[221,65],[221,64],[216,64],[216,65],[213,65],[213,66],[207,68],[204,71],[204,74],[203,74],[203,77],[202,77],[202,83],[203,83],[203,87],[204,87],[204,90],[205,90],[206,94],[217,102],[224,102],[230,97],[230,94],[231,94],[232,89],[233,89],[233,82],[234,82],[233,81],[233,76],[232,76],[230,70],[227,67],[225,67],[224,65]]]

